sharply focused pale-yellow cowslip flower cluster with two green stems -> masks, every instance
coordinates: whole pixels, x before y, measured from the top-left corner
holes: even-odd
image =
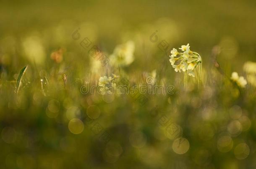
[[[169,61],[172,67],[174,68],[175,72],[185,72],[184,86],[186,86],[187,75],[195,77],[194,70],[200,64],[198,83],[198,86],[200,87],[202,69],[201,56],[198,53],[190,50],[189,43],[187,45],[182,45],[179,49],[183,52],[179,53],[178,50],[175,48],[173,48],[170,52],[171,55]]]

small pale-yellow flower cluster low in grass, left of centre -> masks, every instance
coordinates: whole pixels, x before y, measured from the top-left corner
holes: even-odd
[[[99,78],[99,86],[101,94],[112,94],[116,90],[115,80],[119,77],[115,74],[112,74],[113,77],[103,76]]]

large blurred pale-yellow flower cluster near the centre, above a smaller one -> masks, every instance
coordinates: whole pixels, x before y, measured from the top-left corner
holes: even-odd
[[[135,45],[133,41],[117,45],[114,52],[110,55],[110,63],[113,66],[128,66],[134,61]]]

